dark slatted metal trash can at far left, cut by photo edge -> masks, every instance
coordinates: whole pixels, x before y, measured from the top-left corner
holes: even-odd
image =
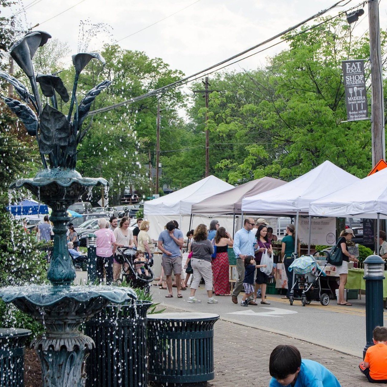
[[[0,328],[0,385],[24,386],[24,342],[29,329]]]

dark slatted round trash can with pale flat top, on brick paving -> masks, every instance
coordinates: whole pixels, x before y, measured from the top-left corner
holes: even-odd
[[[156,385],[207,382],[214,372],[213,313],[148,316],[148,377]]]

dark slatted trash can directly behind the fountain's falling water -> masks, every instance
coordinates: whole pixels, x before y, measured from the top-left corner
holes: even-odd
[[[151,301],[108,305],[86,322],[96,346],[86,361],[86,387],[147,386],[146,325]]]

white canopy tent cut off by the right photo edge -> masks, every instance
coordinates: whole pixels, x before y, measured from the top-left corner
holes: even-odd
[[[387,168],[310,203],[317,216],[387,219]]]

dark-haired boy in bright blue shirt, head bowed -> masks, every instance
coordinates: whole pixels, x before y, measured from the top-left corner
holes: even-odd
[[[273,349],[269,372],[272,376],[269,387],[341,387],[323,365],[301,360],[300,351],[293,345],[279,345]]]

